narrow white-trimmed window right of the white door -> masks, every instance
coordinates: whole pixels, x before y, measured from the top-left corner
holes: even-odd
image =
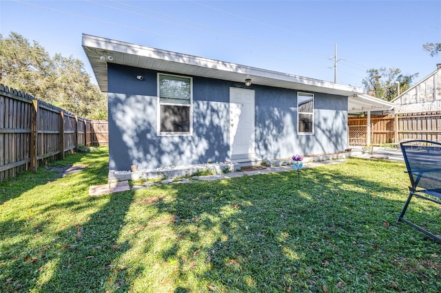
[[[299,134],[314,134],[314,94],[297,93],[297,125]]]

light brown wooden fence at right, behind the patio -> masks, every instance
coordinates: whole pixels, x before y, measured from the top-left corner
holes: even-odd
[[[409,139],[441,142],[441,111],[371,116],[369,126],[367,117],[349,117],[348,128],[352,146],[366,145],[368,131],[374,146]]]

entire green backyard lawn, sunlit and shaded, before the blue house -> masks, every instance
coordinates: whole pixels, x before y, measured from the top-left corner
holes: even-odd
[[[0,183],[0,292],[439,292],[440,243],[396,223],[404,163],[292,172],[101,197],[107,150]],[[408,217],[441,230],[439,206]]]

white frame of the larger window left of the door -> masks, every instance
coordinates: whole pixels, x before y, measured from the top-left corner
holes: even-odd
[[[161,95],[160,95],[160,83],[159,83],[159,76],[176,76],[180,78],[189,78],[190,81],[190,103],[187,104],[178,104],[178,103],[167,103],[167,102],[161,102]],[[158,136],[188,136],[193,134],[193,78],[192,76],[181,76],[176,74],[164,74],[164,73],[158,73],[156,75],[157,80],[157,111],[156,111],[156,117],[158,117],[156,121],[156,133]],[[189,132],[161,132],[161,105],[171,105],[171,106],[183,106],[183,107],[189,107]]]

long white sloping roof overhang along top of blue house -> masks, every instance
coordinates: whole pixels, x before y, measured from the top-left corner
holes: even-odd
[[[83,49],[86,56],[88,56],[98,85],[103,92],[107,92],[108,89],[107,63],[116,63],[153,69],[158,72],[203,76],[238,83],[244,83],[246,78],[251,78],[253,85],[316,91],[348,97],[364,93],[360,87],[340,85],[314,78],[158,50],[152,47],[104,39],[88,34],[83,34]],[[110,59],[112,60],[109,60],[107,56],[111,56]]]

